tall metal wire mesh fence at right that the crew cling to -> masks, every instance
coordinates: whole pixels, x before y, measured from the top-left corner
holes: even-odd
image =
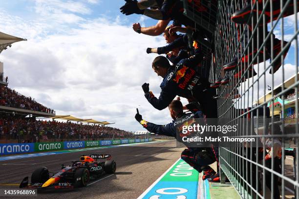
[[[222,182],[246,199],[299,198],[299,0],[183,1],[197,31],[213,34],[218,117],[245,121],[239,137],[262,143],[219,147]]]

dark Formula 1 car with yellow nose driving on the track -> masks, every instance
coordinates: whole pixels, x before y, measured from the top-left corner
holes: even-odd
[[[86,186],[90,178],[99,178],[103,174],[114,174],[116,163],[111,160],[108,154],[81,155],[79,161],[72,161],[69,166],[64,166],[59,172],[49,172],[46,167],[37,168],[31,175],[31,184],[28,185],[29,178],[25,177],[20,184],[20,188],[32,189],[68,189]],[[107,159],[106,161],[97,161]]]

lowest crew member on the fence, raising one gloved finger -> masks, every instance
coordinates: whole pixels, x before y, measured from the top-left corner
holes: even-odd
[[[197,102],[192,102],[186,105],[189,110],[192,110],[191,113],[183,112],[183,105],[180,100],[173,100],[169,104],[169,111],[171,118],[173,121],[171,123],[165,125],[158,125],[151,122],[148,122],[142,119],[142,116],[139,114],[137,109],[137,114],[135,115],[135,119],[149,132],[155,133],[158,135],[165,135],[176,138],[181,142],[180,136],[177,136],[180,132],[179,129],[182,127],[183,123],[187,121],[191,121],[192,119],[202,118],[202,112],[200,108],[197,106]],[[199,173],[204,172],[203,180],[205,179],[214,179],[214,181],[218,181],[219,178],[214,178],[214,176],[218,176],[216,172],[209,166],[210,164],[218,161],[218,148],[213,147],[188,147],[185,149],[181,158],[184,159],[188,164],[190,164],[194,169],[196,169]]]

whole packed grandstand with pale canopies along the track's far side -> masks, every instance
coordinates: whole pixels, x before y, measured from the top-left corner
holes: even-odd
[[[12,43],[22,40],[26,39],[0,32],[0,53],[11,47]],[[52,121],[45,120],[49,118]],[[55,119],[64,119],[66,122]],[[8,77],[4,78],[3,63],[0,62],[0,143],[100,140],[140,136],[106,126],[108,124],[112,123],[73,116],[57,116],[52,108],[9,88]]]

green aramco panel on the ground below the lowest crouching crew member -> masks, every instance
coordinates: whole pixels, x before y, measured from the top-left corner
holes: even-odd
[[[180,159],[161,181],[198,181],[198,171]]]

